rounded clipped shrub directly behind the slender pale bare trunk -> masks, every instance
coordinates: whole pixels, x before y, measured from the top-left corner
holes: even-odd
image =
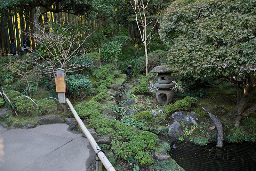
[[[148,72],[154,67],[160,66],[161,63],[165,63],[167,51],[156,50],[148,54]],[[133,72],[135,75],[146,73],[146,56],[141,56],[136,60]]]

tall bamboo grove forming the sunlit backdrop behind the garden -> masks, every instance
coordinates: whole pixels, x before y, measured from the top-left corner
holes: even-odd
[[[152,0],[147,9],[149,19],[154,26],[160,12],[171,1]],[[26,35],[36,32],[37,23],[71,23],[87,27],[92,32],[102,32],[107,38],[126,30],[125,36],[132,38],[132,43],[140,41],[140,33],[135,21],[134,11],[127,0],[107,1],[16,1],[0,0],[0,56],[10,52],[10,39],[16,42],[21,55],[22,42]],[[156,25],[154,32],[158,32]],[[31,48],[36,49],[36,42],[31,38]]]

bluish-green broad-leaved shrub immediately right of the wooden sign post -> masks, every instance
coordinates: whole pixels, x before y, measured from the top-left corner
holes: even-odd
[[[79,75],[66,76],[68,96],[74,99],[83,99],[87,93],[92,93],[92,83],[88,77]]]

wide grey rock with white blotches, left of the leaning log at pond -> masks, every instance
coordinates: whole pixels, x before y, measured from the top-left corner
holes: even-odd
[[[197,115],[195,113],[189,113],[185,115],[183,111],[175,112],[172,114],[172,118],[183,121],[186,126],[197,125],[196,121],[198,120]]]

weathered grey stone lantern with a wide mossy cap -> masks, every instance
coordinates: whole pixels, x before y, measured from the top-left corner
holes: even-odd
[[[164,95],[164,100],[166,100],[166,104],[169,104],[173,100],[173,91],[172,87],[174,87],[174,83],[172,83],[172,72],[177,72],[172,68],[168,67],[166,63],[161,63],[161,66],[156,66],[151,70],[152,73],[158,73],[157,75],[157,83],[154,85],[156,88],[159,88],[156,91],[156,100],[160,104],[164,104],[162,99],[162,94]]]

